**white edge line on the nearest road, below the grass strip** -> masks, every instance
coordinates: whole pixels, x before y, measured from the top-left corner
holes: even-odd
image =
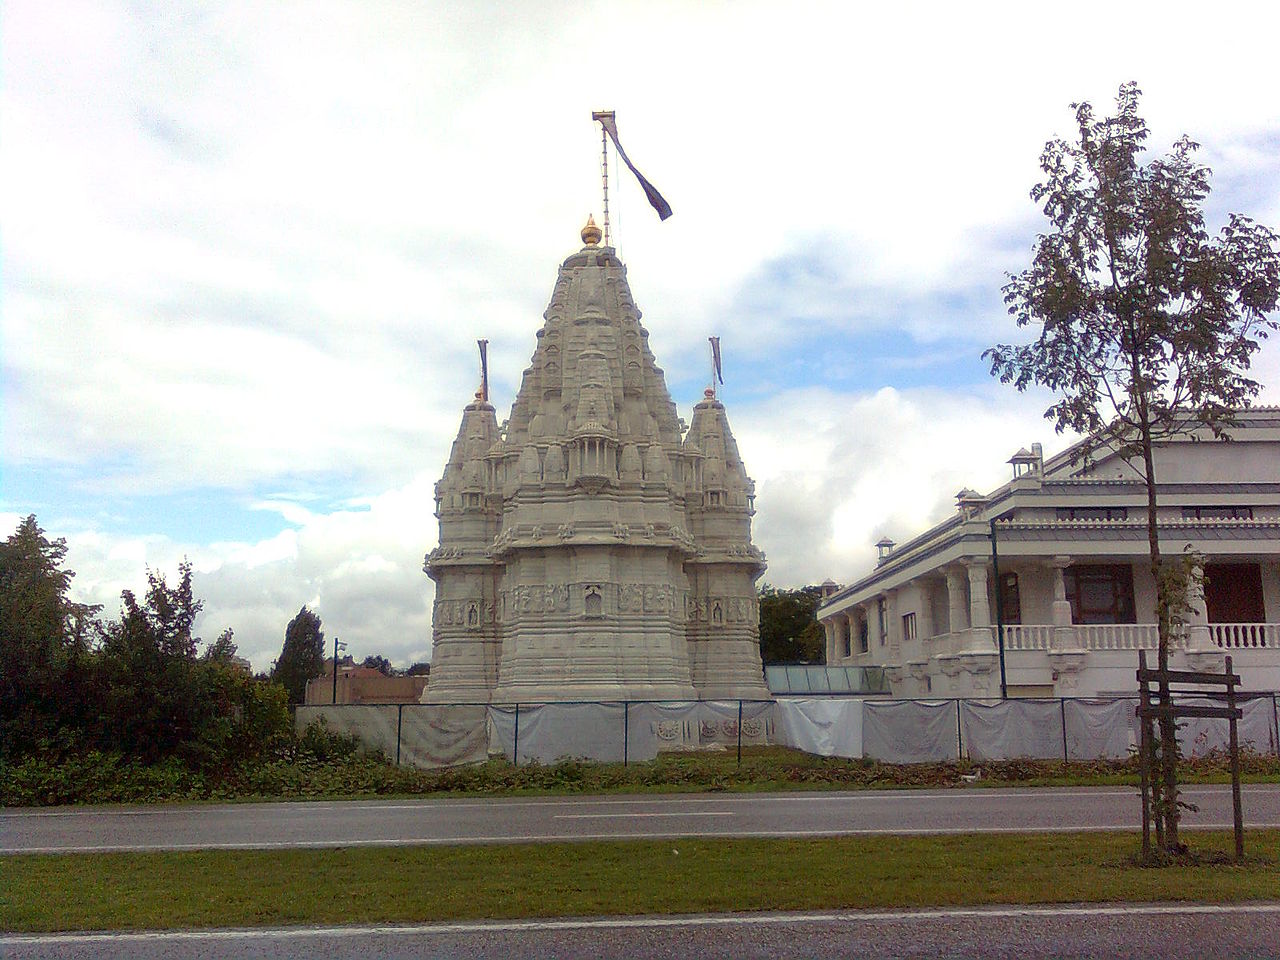
[[[442,936],[456,933],[526,933],[534,931],[639,929],[671,927],[767,927],[801,923],[884,923],[1028,916],[1203,916],[1212,914],[1280,915],[1280,904],[1107,904],[1060,906],[973,906],[929,910],[865,910],[795,914],[718,914],[689,916],[603,916],[585,920],[474,920],[470,923],[365,924],[358,927],[269,927],[229,931],[146,931],[140,933],[5,934],[0,945],[88,945],[155,941],[315,940],[319,937]]]

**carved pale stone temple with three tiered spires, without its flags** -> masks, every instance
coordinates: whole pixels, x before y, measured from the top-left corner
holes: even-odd
[[[426,703],[769,699],[754,484],[714,390],[677,416],[594,221],[500,428],[486,387],[435,488]]]

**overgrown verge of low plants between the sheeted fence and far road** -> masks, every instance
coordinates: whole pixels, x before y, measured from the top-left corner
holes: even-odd
[[[1242,756],[1245,782],[1280,782],[1280,758]],[[644,794],[682,791],[890,790],[963,786],[982,773],[980,786],[1114,786],[1138,783],[1137,763],[1124,760],[960,760],[890,764],[872,759],[814,756],[780,746],[733,751],[659,754],[655,760],[590,763],[563,760],[516,767],[502,759],[471,767],[397,767],[381,754],[346,744],[325,756],[307,753],[250,763],[218,773],[179,764],[142,767],[114,755],[91,754],[61,763],[27,759],[0,763],[0,806],[55,804],[173,803],[221,800],[310,800],[372,796],[511,796]],[[1211,754],[1179,763],[1184,783],[1228,782],[1228,762]]]

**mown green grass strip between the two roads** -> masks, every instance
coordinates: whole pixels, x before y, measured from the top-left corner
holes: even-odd
[[[0,861],[0,929],[1275,899],[1280,831],[1245,841],[1244,864],[1164,869],[1120,833],[24,855]]]

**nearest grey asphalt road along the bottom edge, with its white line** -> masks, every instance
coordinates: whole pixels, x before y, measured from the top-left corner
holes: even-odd
[[[332,960],[440,957],[1280,957],[1280,904],[1080,905],[827,914],[0,936],[12,960],[92,956]]]

